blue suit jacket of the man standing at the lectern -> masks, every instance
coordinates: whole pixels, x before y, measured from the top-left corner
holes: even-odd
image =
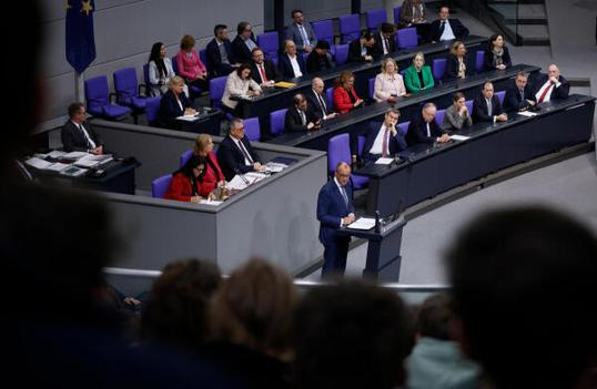
[[[320,221],[320,242],[333,244],[336,240],[336,229],[341,219],[350,213],[354,213],[353,187],[351,183],[344,187],[348,205],[344,201],[334,178],[330,180],[320,191],[317,196],[317,221]]]

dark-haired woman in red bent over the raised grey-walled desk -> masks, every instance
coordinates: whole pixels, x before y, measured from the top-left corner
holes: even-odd
[[[199,203],[205,174],[205,160],[193,155],[184,166],[172,173],[172,182],[164,198]]]

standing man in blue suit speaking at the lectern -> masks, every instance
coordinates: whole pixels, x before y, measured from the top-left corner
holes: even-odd
[[[320,242],[324,246],[322,278],[344,274],[348,255],[350,236],[338,236],[336,229],[354,222],[353,187],[351,166],[341,162],[336,166],[334,180],[325,184],[317,197],[317,219]]]

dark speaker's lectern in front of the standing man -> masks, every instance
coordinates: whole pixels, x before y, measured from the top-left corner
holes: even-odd
[[[367,231],[342,227],[337,229],[337,234],[368,240],[363,277],[382,283],[397,283],[401,275],[402,228],[405,224],[404,217],[401,216],[385,225],[382,224],[380,232],[375,232],[375,227]]]

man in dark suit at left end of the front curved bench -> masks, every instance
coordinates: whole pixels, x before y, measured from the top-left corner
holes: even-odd
[[[363,160],[375,161],[378,157],[394,156],[406,149],[404,135],[396,130],[399,115],[398,110],[389,109],[385,113],[383,123],[377,121],[368,123]]]

